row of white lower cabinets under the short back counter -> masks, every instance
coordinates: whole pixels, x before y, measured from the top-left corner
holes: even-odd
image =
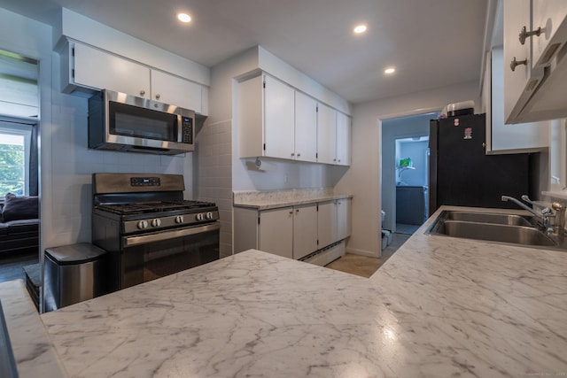
[[[350,209],[350,198],[262,211],[235,206],[234,251],[304,258],[350,235]]]

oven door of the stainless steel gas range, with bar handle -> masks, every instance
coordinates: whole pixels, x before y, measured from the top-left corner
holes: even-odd
[[[219,258],[220,222],[122,237],[120,289]]]

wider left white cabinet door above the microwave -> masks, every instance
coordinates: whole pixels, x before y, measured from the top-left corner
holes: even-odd
[[[111,89],[133,96],[150,96],[150,69],[82,43],[74,43],[74,83]]]

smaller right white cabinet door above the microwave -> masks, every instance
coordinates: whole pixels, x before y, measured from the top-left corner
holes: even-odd
[[[151,99],[201,113],[201,86],[169,73],[151,70]]]

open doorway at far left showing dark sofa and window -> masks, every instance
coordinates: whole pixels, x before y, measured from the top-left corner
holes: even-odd
[[[37,60],[0,50],[0,282],[26,281],[26,267],[41,280],[38,77]]]

